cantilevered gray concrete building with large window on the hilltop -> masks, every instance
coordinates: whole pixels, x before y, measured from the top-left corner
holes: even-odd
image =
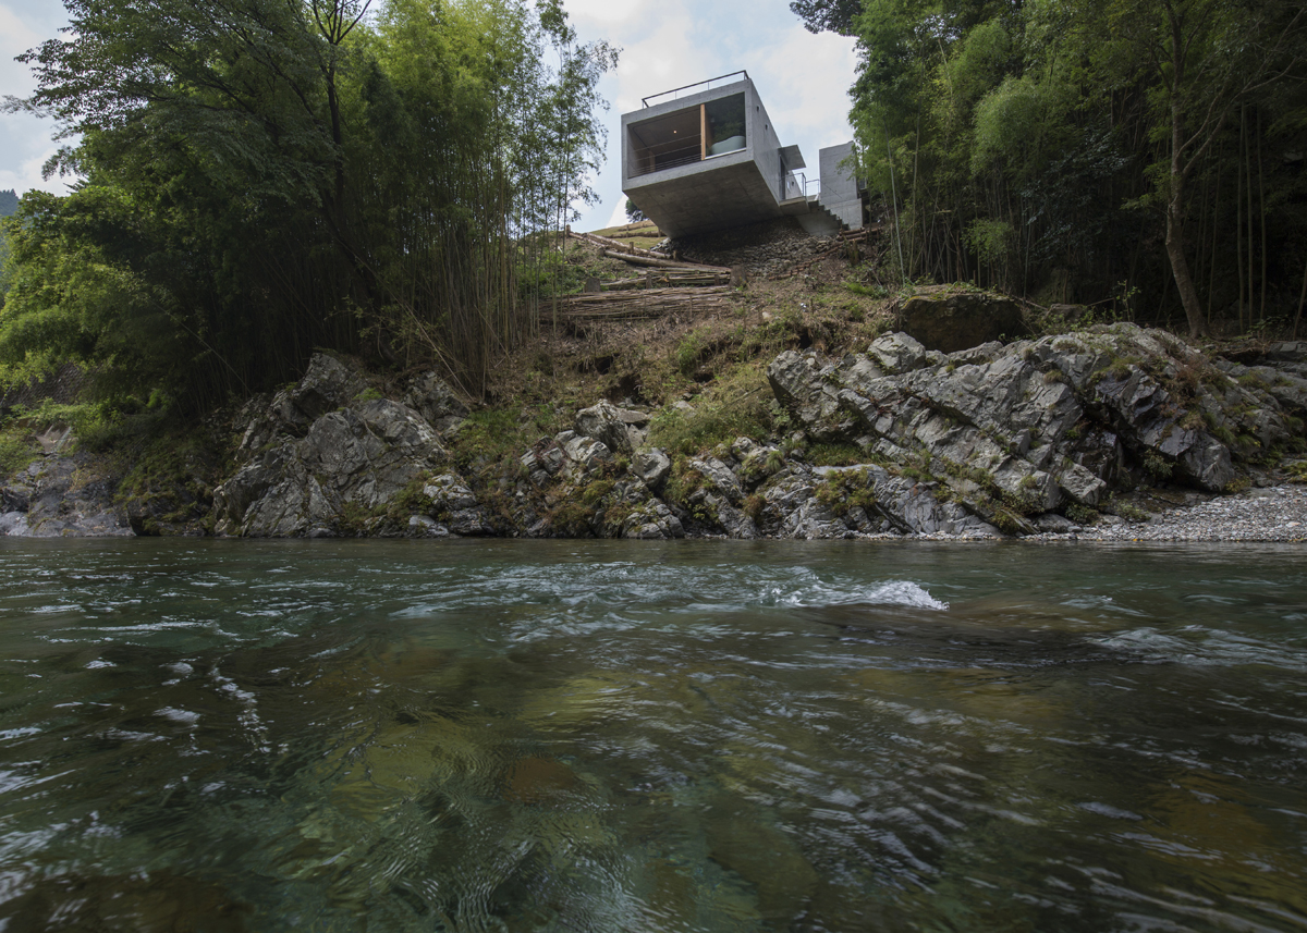
[[[821,150],[818,192],[799,146],[780,144],[746,72],[643,103],[622,115],[622,191],[668,237],[778,217],[813,234],[863,226],[861,186],[839,165],[852,144]]]

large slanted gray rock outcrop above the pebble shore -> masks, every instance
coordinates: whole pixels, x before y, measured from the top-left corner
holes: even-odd
[[[787,352],[767,375],[809,436],[855,442],[929,474],[982,524],[1027,531],[1022,515],[1097,506],[1131,470],[1225,489],[1235,470],[1222,431],[1263,448],[1289,439],[1294,378],[1226,370],[1170,335],[1124,324],[949,357],[889,335],[842,361]],[[877,503],[889,493],[878,480]],[[891,516],[915,506],[889,499],[886,519],[902,525]],[[906,524],[920,533],[958,520],[932,510]]]

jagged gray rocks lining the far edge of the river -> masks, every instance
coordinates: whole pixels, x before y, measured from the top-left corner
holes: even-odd
[[[243,537],[1056,532],[1128,511],[1115,497],[1141,483],[1259,482],[1302,452],[1307,417],[1307,344],[1208,358],[1128,324],[950,354],[897,332],[843,358],[782,353],[767,376],[786,413],[775,436],[664,451],[648,443],[659,416],[599,401],[510,459],[460,468],[451,451],[469,413],[435,374],[387,399],[319,354],[297,385],[237,416],[235,465],[212,491],[209,527]],[[822,465],[833,450],[839,465]],[[0,529],[127,533],[111,490],[76,498],[74,483],[59,485],[65,461],[51,455],[0,489]]]

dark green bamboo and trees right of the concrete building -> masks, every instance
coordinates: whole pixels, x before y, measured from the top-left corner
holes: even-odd
[[[1302,0],[796,0],[857,38],[860,170],[910,280],[1209,329],[1299,314]]]

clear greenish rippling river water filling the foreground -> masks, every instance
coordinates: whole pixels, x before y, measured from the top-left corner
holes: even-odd
[[[1303,930],[1302,548],[0,541],[5,930]]]

